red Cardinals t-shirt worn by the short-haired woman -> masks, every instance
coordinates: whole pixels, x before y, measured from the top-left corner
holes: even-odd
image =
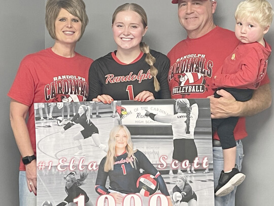
[[[27,55],[20,63],[8,96],[29,106],[27,128],[36,154],[33,103],[85,101],[88,97],[88,71],[92,59],[78,53],[61,57],[51,48]],[[20,171],[25,167],[20,161]]]

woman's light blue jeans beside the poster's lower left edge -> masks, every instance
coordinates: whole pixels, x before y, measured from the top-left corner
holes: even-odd
[[[36,196],[28,190],[25,171],[19,171],[19,202],[20,206],[36,206]]]

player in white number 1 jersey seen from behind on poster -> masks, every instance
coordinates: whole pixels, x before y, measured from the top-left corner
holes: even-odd
[[[197,157],[197,148],[194,142],[194,129],[198,118],[198,105],[192,99],[178,99],[176,101],[175,110],[178,112],[174,115],[155,115],[149,111],[146,116],[151,119],[164,123],[172,124],[173,131],[173,161],[176,159],[179,162],[188,159],[189,162]],[[169,175],[173,175],[172,166],[170,166]],[[192,168],[187,168],[187,173],[196,173],[194,171],[193,163]],[[182,175],[180,167],[178,168],[178,175]]]

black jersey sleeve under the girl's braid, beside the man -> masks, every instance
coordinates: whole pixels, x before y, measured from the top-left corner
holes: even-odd
[[[170,96],[170,91],[169,91],[168,81],[167,81],[170,61],[163,54],[160,54],[160,58],[157,58],[156,62],[157,60],[160,61],[159,64],[155,65],[155,67],[158,69],[157,79],[161,87],[160,99],[170,99],[171,96]]]

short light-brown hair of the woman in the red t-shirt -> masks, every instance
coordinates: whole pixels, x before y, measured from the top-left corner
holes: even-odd
[[[86,25],[88,24],[88,16],[86,14],[86,5],[83,0],[48,0],[46,4],[46,27],[49,31],[50,36],[53,39],[57,39],[55,35],[55,21],[61,9],[65,9],[73,16],[80,19],[82,23],[81,39],[84,34]]]

